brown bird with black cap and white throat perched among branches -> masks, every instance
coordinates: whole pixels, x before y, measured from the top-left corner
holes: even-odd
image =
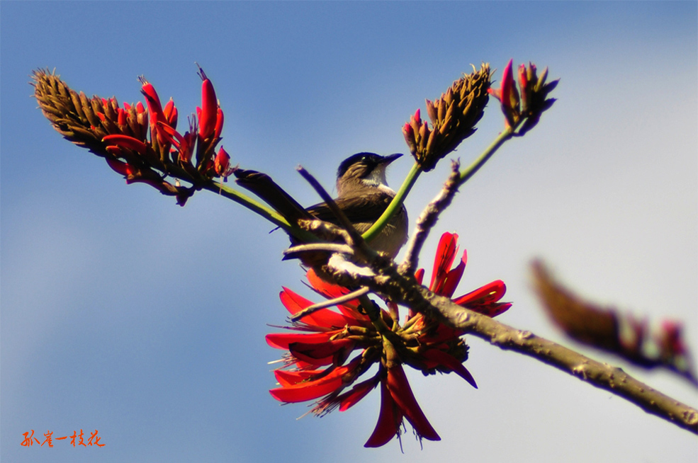
[[[388,186],[385,179],[385,168],[400,156],[402,154],[399,153],[381,156],[361,152],[349,156],[339,164],[337,198],[334,202],[357,232],[363,234],[371,228],[395,198],[395,191]],[[326,202],[305,208],[264,173],[237,169],[235,176],[239,185],[258,195],[291,223],[298,219],[314,218],[340,225]],[[405,242],[407,210],[402,205],[381,233],[368,245],[375,251],[395,258]]]

